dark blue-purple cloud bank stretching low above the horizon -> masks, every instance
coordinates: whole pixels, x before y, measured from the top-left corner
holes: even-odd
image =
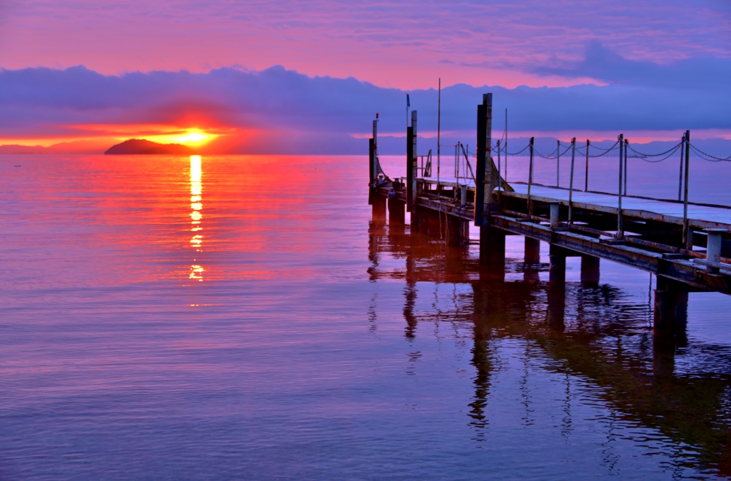
[[[599,130],[731,129],[728,61],[689,60],[661,66],[628,61],[601,45],[586,59],[537,72],[594,77],[609,86],[508,89],[455,85],[442,90],[443,143],[474,143],[476,105],[493,92],[495,129],[571,132]],[[409,92],[420,132],[436,132],[435,90]],[[209,119],[213,125],[256,129],[230,143],[230,153],[363,154],[371,120],[380,113],[383,154],[404,152],[406,92],[355,78],[308,77],[284,67],[262,72],[216,69],[132,72],[105,76],[86,69],[29,68],[0,71],[0,137],[75,135],[83,124],[179,124]],[[543,135],[545,137],[545,135]],[[424,148],[436,140],[424,139]],[[718,143],[721,145],[721,143]],[[719,152],[722,154],[722,152]],[[726,154],[727,155],[727,154]]]

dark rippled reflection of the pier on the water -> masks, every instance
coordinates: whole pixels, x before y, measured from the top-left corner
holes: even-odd
[[[514,254],[523,250],[522,237],[510,239]],[[731,349],[689,343],[684,330],[674,346],[654,343],[654,279],[646,299],[596,282],[598,272],[549,287],[541,281],[548,263],[530,246],[504,270],[480,271],[474,251],[379,216],[370,224],[369,247],[372,280],[405,282],[409,344],[417,336],[444,336],[444,323],[471,342],[474,396],[465,412],[476,440],[484,441],[491,425],[515,419],[515,406],[529,427],[550,411],[546,403],[560,402],[561,413],[548,413],[555,429],[567,442],[586,442],[575,424],[586,420],[588,406],[602,406],[605,414],[591,420],[605,438],[610,473],[618,463],[613,443],[623,439],[643,454],[667,455],[665,467],[676,476],[731,476]],[[385,257],[402,264],[393,268]],[[519,379],[512,398],[511,379]]]

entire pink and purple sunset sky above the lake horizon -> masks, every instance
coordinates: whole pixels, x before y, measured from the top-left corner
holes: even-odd
[[[357,151],[407,91],[433,135],[439,77],[464,142],[488,90],[516,135],[731,139],[721,0],[6,1],[0,67],[0,144]]]

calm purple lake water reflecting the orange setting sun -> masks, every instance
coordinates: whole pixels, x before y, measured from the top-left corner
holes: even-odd
[[[0,156],[0,479],[731,475],[731,298],[654,354],[649,274],[569,258],[557,330],[546,246],[481,279],[477,246],[374,223],[366,165]]]

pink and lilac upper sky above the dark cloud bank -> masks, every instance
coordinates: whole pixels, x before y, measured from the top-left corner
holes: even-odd
[[[98,72],[281,64],[379,86],[561,86],[537,72],[599,41],[630,60],[731,58],[725,2],[589,0],[19,1],[0,7],[0,67]]]

